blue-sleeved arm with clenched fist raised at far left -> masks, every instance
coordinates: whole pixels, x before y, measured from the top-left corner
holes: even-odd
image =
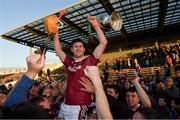
[[[12,107],[27,100],[29,90],[34,84],[33,79],[44,67],[44,62],[44,55],[41,56],[40,54],[33,53],[27,57],[28,70],[8,94],[4,106]]]

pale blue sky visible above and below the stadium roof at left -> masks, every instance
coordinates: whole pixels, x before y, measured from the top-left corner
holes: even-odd
[[[0,0],[0,34],[43,18],[80,0]],[[29,47],[0,38],[0,69],[26,67]],[[60,63],[55,53],[47,63]]]

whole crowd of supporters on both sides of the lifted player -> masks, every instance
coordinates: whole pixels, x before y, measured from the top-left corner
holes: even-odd
[[[135,54],[126,60],[117,59],[113,65],[105,63],[101,66],[101,80],[113,118],[132,119],[138,118],[138,115],[149,119],[180,118],[179,57],[180,45],[178,43],[170,46],[161,44],[159,47],[144,49],[143,53]],[[164,66],[165,72],[156,71],[154,75],[148,76],[141,74],[141,68],[156,66]],[[134,77],[134,74],[129,77],[122,72],[123,69],[135,69],[139,77]],[[112,75],[115,76],[113,80]],[[12,105],[11,109],[4,108],[4,102],[13,86],[9,84],[8,88],[1,89],[2,118],[58,118],[66,87],[65,69],[61,68],[52,72],[47,70],[46,75],[39,72],[38,76],[27,91],[28,103]],[[87,119],[97,119],[99,109],[97,110],[96,107],[101,106],[92,90],[94,89],[92,82],[82,81],[81,83],[92,93]],[[37,111],[38,105],[43,106],[44,111]],[[33,112],[27,110],[31,107],[34,107]],[[32,117],[35,115],[38,117]]]

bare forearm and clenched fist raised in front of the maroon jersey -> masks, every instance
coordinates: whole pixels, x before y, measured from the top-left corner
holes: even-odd
[[[90,78],[95,88],[96,109],[99,119],[112,119],[109,104],[103,89],[99,69],[96,66],[87,66],[85,75]]]

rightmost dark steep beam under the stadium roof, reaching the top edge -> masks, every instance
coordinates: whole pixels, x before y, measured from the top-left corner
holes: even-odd
[[[163,34],[164,21],[165,21],[165,16],[166,16],[166,12],[167,12],[167,6],[168,6],[168,0],[160,0],[159,19],[158,19],[158,29],[159,29],[160,35]]]

